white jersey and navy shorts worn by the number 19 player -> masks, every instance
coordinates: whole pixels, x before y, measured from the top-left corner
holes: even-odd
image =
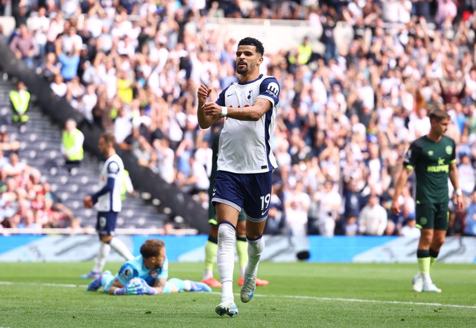
[[[279,92],[279,83],[274,76],[260,74],[253,81],[233,83],[216,101],[220,106],[244,108],[263,98],[273,105],[256,122],[225,118],[220,134],[212,203],[227,203],[238,211],[243,208],[248,219],[255,222],[268,217],[271,174],[278,166],[269,139],[274,129]],[[233,187],[235,183],[241,188]],[[252,188],[247,188],[248,185]]]

